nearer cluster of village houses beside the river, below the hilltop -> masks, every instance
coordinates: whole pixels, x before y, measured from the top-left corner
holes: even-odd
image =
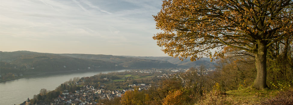
[[[127,90],[133,90],[134,87],[138,87],[139,90],[148,89],[151,85],[145,84],[133,84],[129,85],[130,88]],[[68,90],[63,91],[61,95],[58,96],[53,102],[30,102],[29,98],[20,105],[96,105],[98,99],[113,99],[114,97],[121,97],[122,94],[127,90],[105,90],[104,85],[100,85],[97,89],[94,86],[82,86],[80,91],[75,91],[76,93],[68,92]]]

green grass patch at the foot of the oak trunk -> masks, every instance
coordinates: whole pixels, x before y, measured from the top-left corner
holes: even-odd
[[[278,90],[257,90],[251,88],[243,88],[240,90],[226,91],[226,93],[226,98],[231,99],[231,101],[233,101],[232,103],[235,105],[251,105],[264,98],[276,96]]]

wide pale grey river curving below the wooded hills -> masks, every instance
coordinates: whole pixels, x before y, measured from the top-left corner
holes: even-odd
[[[99,73],[123,72],[126,70],[107,70],[85,73],[41,74],[2,82],[0,84],[0,105],[18,105],[32,99],[42,88],[54,90],[61,83],[74,77],[94,76]]]

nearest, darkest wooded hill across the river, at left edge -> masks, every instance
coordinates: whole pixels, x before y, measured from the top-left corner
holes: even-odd
[[[114,62],[27,51],[1,52],[1,74],[66,70],[119,69]]]

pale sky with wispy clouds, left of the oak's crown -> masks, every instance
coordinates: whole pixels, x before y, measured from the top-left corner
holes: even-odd
[[[161,0],[0,0],[0,51],[168,56]]]

